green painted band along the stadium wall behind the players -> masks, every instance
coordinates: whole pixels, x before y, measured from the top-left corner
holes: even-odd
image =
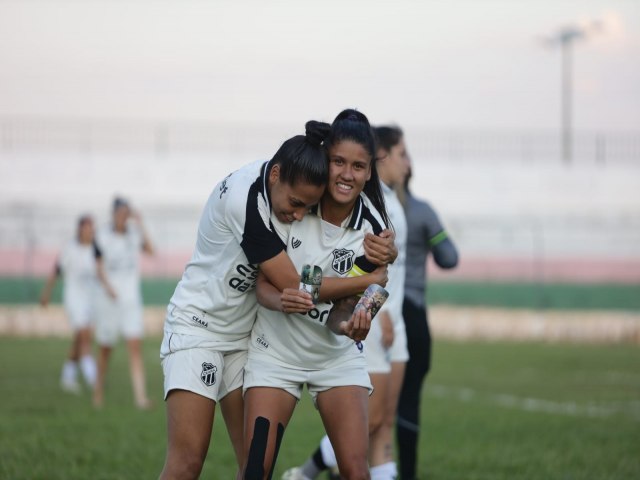
[[[177,279],[144,279],[142,293],[147,305],[166,305]],[[0,278],[0,304],[38,301],[44,279]],[[61,284],[54,291],[60,302]],[[640,311],[640,284],[533,284],[496,282],[443,282],[429,285],[430,304],[482,305],[506,308],[601,309]]]

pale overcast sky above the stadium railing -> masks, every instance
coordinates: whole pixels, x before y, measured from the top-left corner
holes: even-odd
[[[640,130],[640,1],[0,0],[0,118]]]

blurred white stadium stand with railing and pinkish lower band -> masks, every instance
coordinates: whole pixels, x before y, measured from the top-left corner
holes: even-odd
[[[157,245],[145,273],[178,276],[216,182],[299,133],[17,120],[0,130],[0,276],[45,274],[77,216],[107,221],[116,194],[141,210]],[[442,278],[640,282],[640,136],[585,134],[571,162],[548,133],[406,137],[412,190],[460,249],[460,267]]]

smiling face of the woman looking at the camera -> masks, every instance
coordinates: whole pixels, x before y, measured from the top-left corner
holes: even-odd
[[[343,140],[329,148],[327,193],[334,204],[350,211],[370,178],[371,155],[362,145]]]

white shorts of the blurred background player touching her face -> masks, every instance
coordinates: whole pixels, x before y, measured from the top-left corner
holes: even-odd
[[[98,300],[95,337],[98,345],[113,346],[122,336],[127,340],[144,335],[142,304],[138,301],[118,301],[102,296]]]

